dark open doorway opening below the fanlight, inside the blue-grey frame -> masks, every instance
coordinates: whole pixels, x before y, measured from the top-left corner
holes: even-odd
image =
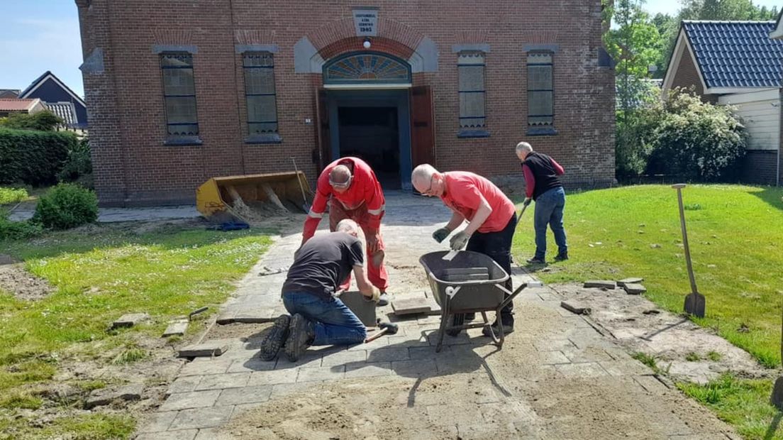
[[[340,155],[366,161],[384,188],[400,187],[397,107],[337,108]]]

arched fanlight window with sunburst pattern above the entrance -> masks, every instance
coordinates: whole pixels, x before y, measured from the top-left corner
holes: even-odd
[[[410,84],[410,64],[378,52],[352,52],[323,66],[323,84]]]

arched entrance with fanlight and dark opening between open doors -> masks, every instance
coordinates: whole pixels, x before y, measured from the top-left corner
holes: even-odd
[[[330,160],[366,160],[384,188],[410,188],[410,64],[382,52],[350,52],[323,65],[319,106]],[[323,126],[323,124],[322,124]]]

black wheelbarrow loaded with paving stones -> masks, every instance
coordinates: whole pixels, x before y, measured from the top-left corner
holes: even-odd
[[[489,333],[498,348],[503,348],[503,323],[497,319],[497,333],[487,319],[486,312],[496,312],[514,301],[522,289],[522,283],[514,292],[505,286],[509,275],[492,258],[478,252],[458,252],[451,261],[443,260],[446,251],[431,252],[419,258],[427,272],[427,279],[441,306],[441,322],[435,352],[443,347],[443,335],[455,335],[461,330],[489,327]],[[481,313],[482,323],[465,324],[458,319],[464,313]]]

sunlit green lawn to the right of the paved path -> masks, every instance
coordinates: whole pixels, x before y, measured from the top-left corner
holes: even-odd
[[[695,185],[683,189],[696,284],[707,305],[707,316],[695,322],[715,329],[770,368],[781,365],[781,197],[783,190],[770,187]],[[531,207],[514,236],[517,261],[532,257],[535,251],[532,218]],[[545,283],[641,276],[647,298],[671,312],[682,311],[690,284],[676,190],[626,186],[568,194],[565,231],[570,260],[550,265],[552,272],[537,273]],[[548,234],[547,258],[551,261],[557,248],[551,231]],[[710,386],[721,392],[712,391],[719,397],[709,406],[720,406],[720,417],[734,423],[743,435],[783,438],[783,430],[774,429],[765,437],[766,428],[779,414],[767,404],[771,384],[723,380]],[[684,389],[694,396],[710,392],[709,387],[692,385]]]

